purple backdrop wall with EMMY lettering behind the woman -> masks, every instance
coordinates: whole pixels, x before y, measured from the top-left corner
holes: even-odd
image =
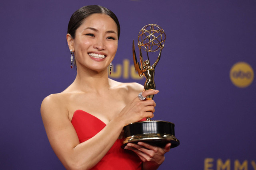
[[[148,23],[166,33],[154,119],[175,123],[180,146],[160,170],[256,169],[256,81],[239,88],[230,80],[240,61],[255,74],[255,0],[1,2],[0,169],[64,169],[46,137],[40,104],[74,80],[66,29],[72,13],[90,4],[106,6],[120,21],[113,66],[120,64],[122,74],[115,80],[144,84],[124,74],[124,60],[132,66],[132,40]]]

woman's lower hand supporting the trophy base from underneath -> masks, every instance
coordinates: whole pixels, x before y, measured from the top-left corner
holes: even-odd
[[[158,168],[164,162],[164,154],[170,151],[171,143],[165,145],[164,148],[149,145],[147,143],[138,142],[128,143],[124,149],[134,151],[143,162],[150,164],[150,167]]]

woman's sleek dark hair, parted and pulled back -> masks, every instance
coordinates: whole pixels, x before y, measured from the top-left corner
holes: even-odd
[[[72,36],[72,38],[76,37],[76,29],[80,27],[84,19],[92,14],[106,14],[110,16],[116,22],[117,30],[118,30],[118,39],[119,39],[120,24],[116,15],[112,11],[110,11],[108,8],[105,8],[99,5],[83,6],[82,8],[74,12],[74,14],[72,14],[68,23],[68,33]]]

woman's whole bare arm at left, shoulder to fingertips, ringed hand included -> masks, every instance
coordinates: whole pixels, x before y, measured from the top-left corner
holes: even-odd
[[[144,95],[156,94],[149,90]],[[56,96],[48,96],[41,106],[41,115],[52,149],[67,169],[90,169],[96,165],[112,147],[124,125],[153,117],[154,101],[132,100],[97,135],[79,143],[76,131],[68,119],[68,110]],[[104,139],[104,140],[102,140]]]

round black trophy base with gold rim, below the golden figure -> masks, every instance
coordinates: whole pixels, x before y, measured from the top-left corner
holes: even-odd
[[[150,145],[164,147],[172,143],[171,148],[180,145],[174,134],[174,123],[168,121],[140,121],[130,123],[124,127],[124,141],[122,148],[127,143],[145,142]]]

